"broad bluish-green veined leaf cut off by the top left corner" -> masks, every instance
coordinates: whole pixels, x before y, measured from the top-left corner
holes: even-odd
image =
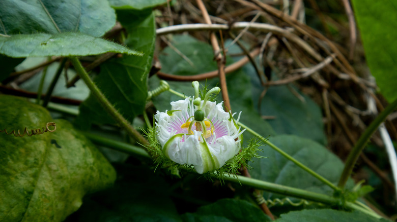
[[[102,36],[116,23],[106,0],[2,0],[0,34],[82,32]]]

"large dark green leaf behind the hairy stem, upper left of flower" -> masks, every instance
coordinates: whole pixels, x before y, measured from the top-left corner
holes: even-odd
[[[156,30],[151,11],[131,13],[132,11],[121,11],[118,18],[128,31],[127,46],[145,52],[144,56],[123,56],[105,62],[101,65],[101,72],[95,82],[119,112],[132,122],[145,108]],[[91,123],[114,122],[93,96],[81,104],[77,120],[84,128]]]

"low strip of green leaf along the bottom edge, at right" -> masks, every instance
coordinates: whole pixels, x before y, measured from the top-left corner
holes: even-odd
[[[381,222],[389,221],[384,218],[377,219],[359,211],[345,212],[331,209],[292,211],[281,214],[276,222]]]

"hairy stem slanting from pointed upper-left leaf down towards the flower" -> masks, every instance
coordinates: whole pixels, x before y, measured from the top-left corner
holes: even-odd
[[[127,131],[128,135],[134,138],[141,145],[146,145],[148,141],[141,135],[131,124],[116,110],[116,108],[106,99],[99,88],[90,79],[87,71],[83,68],[80,61],[76,57],[70,57],[76,72],[80,78],[86,83],[91,93],[97,98],[99,103],[103,106],[106,112],[120,125],[121,128]]]

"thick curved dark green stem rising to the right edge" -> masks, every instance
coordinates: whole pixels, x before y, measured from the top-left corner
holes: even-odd
[[[361,151],[364,149],[366,143],[371,138],[372,134],[378,129],[379,125],[385,121],[386,117],[393,112],[394,109],[397,108],[397,99],[395,99],[392,103],[390,103],[386,108],[375,118],[374,121],[366,128],[364,133],[358,139],[356,145],[353,147],[352,151],[349,154],[348,159],[345,163],[345,168],[343,169],[341,178],[338,182],[339,188],[344,188],[347,180],[353,172],[354,165],[358,157],[360,156]]]

